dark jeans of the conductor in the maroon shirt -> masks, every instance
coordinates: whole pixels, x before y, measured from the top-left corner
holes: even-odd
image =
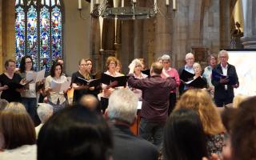
[[[153,144],[159,149],[162,144],[163,128],[165,124],[166,122],[150,122],[146,118],[141,118],[139,135],[147,141],[153,138]]]

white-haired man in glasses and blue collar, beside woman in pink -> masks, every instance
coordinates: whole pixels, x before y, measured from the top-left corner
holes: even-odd
[[[194,54],[192,54],[192,53],[186,54],[185,61],[186,61],[186,65],[182,66],[180,69],[178,69],[179,77],[181,77],[181,75],[182,75],[182,70],[186,70],[186,71],[190,72],[191,74],[194,74],[194,69],[193,69]],[[187,89],[188,89],[188,86],[181,83],[180,86],[178,87],[179,95],[181,96],[183,94],[183,92]]]

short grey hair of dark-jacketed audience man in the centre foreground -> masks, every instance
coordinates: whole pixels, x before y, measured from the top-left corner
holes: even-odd
[[[110,119],[117,119],[130,124],[137,114],[138,96],[131,90],[115,90],[109,99],[107,113]]]

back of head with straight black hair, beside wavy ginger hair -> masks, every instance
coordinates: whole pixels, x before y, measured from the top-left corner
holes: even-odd
[[[163,152],[166,159],[198,160],[207,156],[206,134],[194,110],[175,110],[167,119]]]

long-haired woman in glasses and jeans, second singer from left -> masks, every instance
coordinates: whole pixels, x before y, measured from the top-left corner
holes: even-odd
[[[22,57],[19,71],[22,78],[26,78],[26,74],[34,72],[33,61],[29,55]],[[30,114],[30,117],[34,119],[37,107],[37,93],[35,90],[35,83],[30,82],[28,90],[23,90],[21,94],[22,104],[26,107],[26,111]]]

